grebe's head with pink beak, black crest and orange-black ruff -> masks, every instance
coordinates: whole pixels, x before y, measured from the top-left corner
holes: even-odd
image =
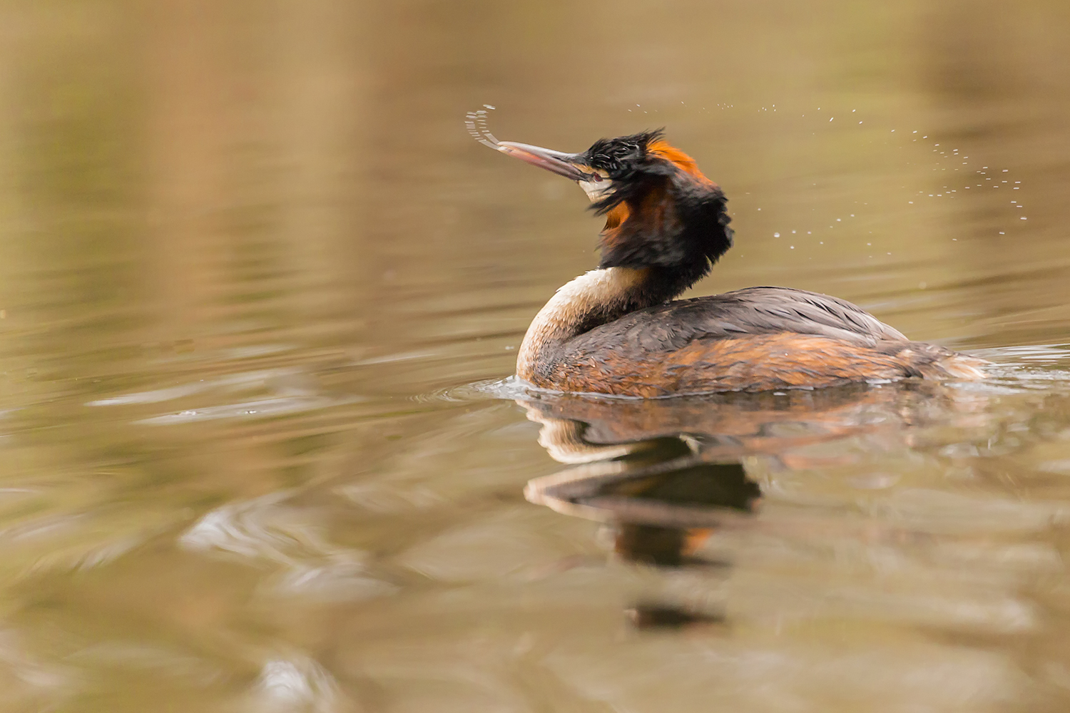
[[[724,193],[660,130],[599,139],[579,154],[496,148],[583,188],[606,216],[600,267],[670,268],[690,284],[732,247]]]

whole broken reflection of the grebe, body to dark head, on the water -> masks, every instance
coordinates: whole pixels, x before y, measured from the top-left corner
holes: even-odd
[[[541,424],[539,444],[575,466],[530,481],[530,501],[606,524],[621,559],[700,568],[716,577],[727,570],[708,546],[715,532],[885,543],[880,546],[915,539],[898,527],[830,522],[782,506],[771,517],[756,517],[762,479],[754,479],[755,463],[781,472],[825,468],[851,452],[910,452],[927,429],[991,425],[983,398],[926,382],[659,400],[532,392],[518,403]],[[720,618],[716,607],[671,598],[647,599],[630,614],[642,626]]]

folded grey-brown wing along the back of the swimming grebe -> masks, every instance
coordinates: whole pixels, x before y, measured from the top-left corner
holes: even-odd
[[[795,332],[862,346],[908,341],[849,301],[791,288],[747,288],[708,297],[679,299],[625,314],[572,340],[571,348],[599,344],[673,351],[696,339]]]

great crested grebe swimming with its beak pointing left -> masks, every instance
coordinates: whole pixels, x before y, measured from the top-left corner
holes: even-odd
[[[660,130],[579,154],[476,138],[576,181],[606,216],[598,269],[559,289],[524,335],[517,375],[537,387],[648,398],[984,376],[982,359],[912,342],[827,295],[763,286],[675,299],[732,247],[732,229],[724,193]]]

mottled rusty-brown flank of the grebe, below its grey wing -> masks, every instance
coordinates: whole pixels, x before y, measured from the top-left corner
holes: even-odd
[[[712,391],[826,387],[867,379],[954,376],[979,360],[933,344],[884,342],[859,346],[827,337],[781,332],[700,339],[669,352],[621,344],[571,353],[530,381],[557,391],[661,397]],[[972,363],[973,362],[973,363]]]

